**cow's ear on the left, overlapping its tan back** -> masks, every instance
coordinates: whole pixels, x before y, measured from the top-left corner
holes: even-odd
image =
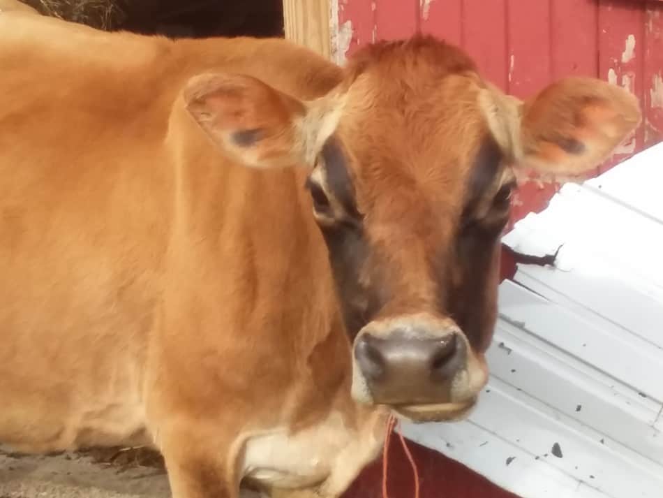
[[[239,74],[195,76],[183,97],[207,136],[253,168],[312,167],[341,113],[341,98],[335,94],[299,101]]]

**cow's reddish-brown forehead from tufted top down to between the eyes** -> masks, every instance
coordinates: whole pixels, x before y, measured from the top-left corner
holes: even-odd
[[[360,52],[348,78],[338,136],[359,202],[417,192],[461,204],[489,138],[471,59],[422,36]]]

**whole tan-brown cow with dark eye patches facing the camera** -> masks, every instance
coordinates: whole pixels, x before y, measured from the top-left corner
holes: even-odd
[[[616,85],[524,101],[416,35],[338,66],[0,13],[0,441],[148,445],[175,498],[333,498],[488,378],[516,173],[581,175]]]

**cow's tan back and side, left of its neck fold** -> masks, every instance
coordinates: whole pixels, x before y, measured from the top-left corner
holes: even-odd
[[[299,65],[271,76],[286,91],[334,84],[335,66],[303,70],[279,43],[175,43],[0,13],[0,440],[143,442],[174,205],[172,103],[191,75],[265,71],[270,52],[274,68]]]

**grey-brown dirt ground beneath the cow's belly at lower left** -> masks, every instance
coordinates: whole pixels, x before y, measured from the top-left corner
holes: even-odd
[[[22,455],[0,446],[0,498],[170,498],[165,468],[142,449]]]

